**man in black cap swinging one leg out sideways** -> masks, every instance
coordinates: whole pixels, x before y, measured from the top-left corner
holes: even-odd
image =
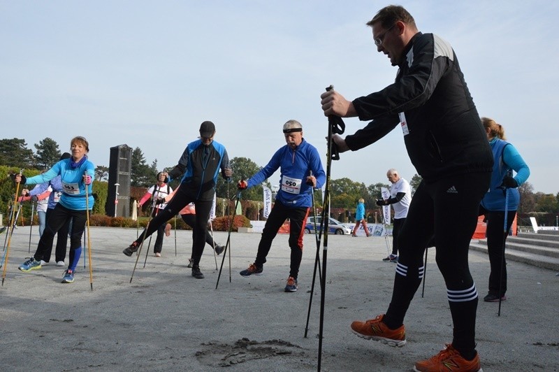
[[[187,145],[178,164],[169,172],[171,180],[184,173],[175,196],[168,202],[166,208],[150,221],[145,234],[140,234],[136,241],[122,251],[124,255],[131,256],[138,250],[140,243],[157,230],[157,227],[173,218],[184,206],[194,202],[196,224],[194,225],[192,276],[197,279],[204,278],[199,265],[204,252],[208,217],[210,217],[212,209],[217,176],[219,171],[222,172],[224,178],[231,178],[232,175],[227,151],[224,145],[213,141],[214,134],[214,123],[203,122],[201,124],[200,138]],[[164,199],[158,199],[156,203],[164,203]]]

